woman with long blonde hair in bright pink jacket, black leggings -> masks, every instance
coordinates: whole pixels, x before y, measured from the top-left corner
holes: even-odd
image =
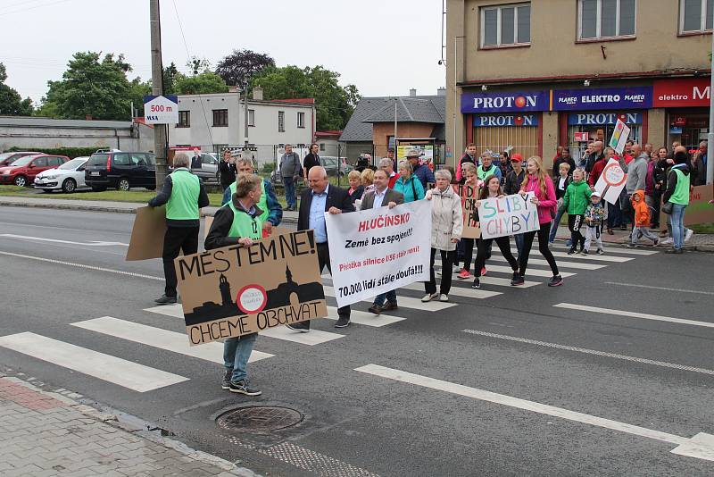
[[[557,207],[558,201],[555,198],[555,188],[552,185],[552,179],[544,170],[543,160],[537,155],[528,159],[527,176],[526,179],[523,180],[521,190],[535,194],[535,197],[531,199],[531,203],[537,207],[540,229],[523,234],[523,250],[519,255],[519,276],[511,280],[511,285],[523,285],[526,282],[528,256],[530,255],[531,247],[533,247],[533,239],[537,233],[538,249],[551,266],[552,279],[548,281],[548,286],[558,287],[562,285],[563,279],[558,272],[558,264],[555,263],[555,258],[552,256],[550,248],[548,248],[548,236],[551,232],[553,209]]]

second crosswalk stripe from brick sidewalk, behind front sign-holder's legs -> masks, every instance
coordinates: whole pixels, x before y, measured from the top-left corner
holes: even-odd
[[[146,326],[145,324],[128,322],[112,318],[111,316],[103,316],[94,320],[85,322],[71,323],[72,326],[83,328],[89,331],[96,331],[112,337],[127,339],[135,343],[141,343],[150,347],[158,347],[180,355],[192,356],[212,363],[223,364],[223,344],[213,341],[205,343],[198,347],[192,347],[188,344],[186,333],[176,331],[163,330],[154,326]],[[253,349],[248,363],[254,363],[274,355],[270,353],[262,353]]]

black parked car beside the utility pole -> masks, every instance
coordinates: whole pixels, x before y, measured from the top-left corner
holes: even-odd
[[[89,157],[84,171],[87,186],[107,188],[156,188],[156,156],[152,153],[109,151]]]

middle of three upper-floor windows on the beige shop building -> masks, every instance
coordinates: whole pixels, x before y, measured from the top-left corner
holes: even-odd
[[[636,0],[578,0],[577,38],[635,36]]]

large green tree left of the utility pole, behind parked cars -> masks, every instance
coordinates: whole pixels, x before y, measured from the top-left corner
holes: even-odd
[[[116,58],[105,54],[100,60],[98,53],[79,52],[72,55],[67,66],[62,80],[47,83],[49,90],[40,113],[65,119],[91,115],[97,120],[129,120],[129,103],[134,96],[127,79],[131,66],[123,54]]]

